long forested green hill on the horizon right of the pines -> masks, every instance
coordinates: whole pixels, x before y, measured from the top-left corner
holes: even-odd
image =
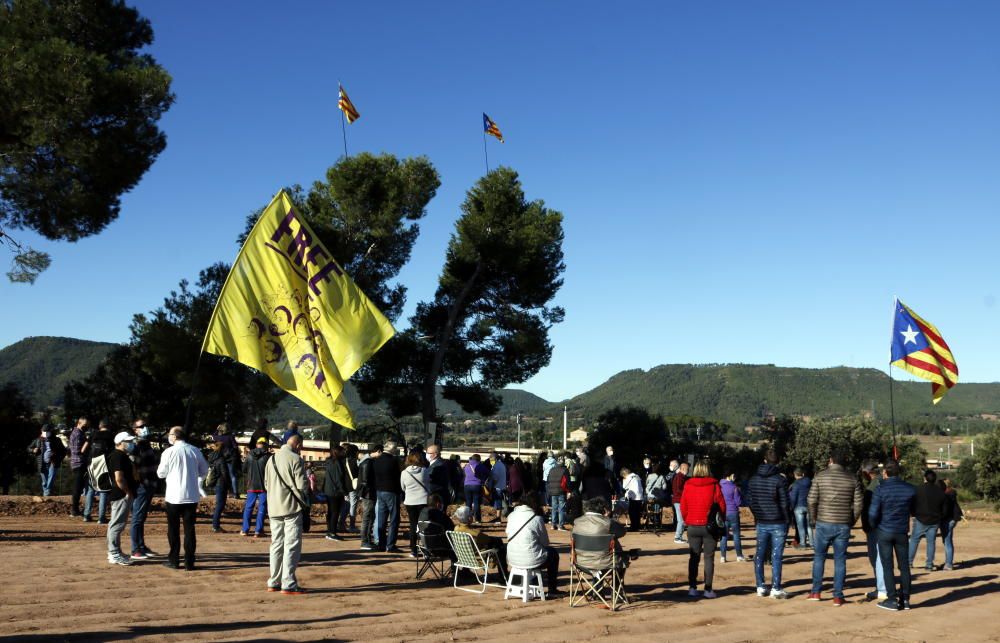
[[[895,382],[896,419],[941,421],[1000,412],[1000,384],[958,384],[932,405],[930,384]],[[587,417],[616,405],[663,415],[700,415],[732,426],[768,415],[833,418],[870,413],[889,417],[889,378],[875,369],[783,368],[750,364],[669,364],[622,371],[567,402]]]

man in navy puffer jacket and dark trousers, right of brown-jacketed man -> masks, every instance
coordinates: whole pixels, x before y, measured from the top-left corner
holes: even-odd
[[[910,609],[910,565],[907,556],[906,532],[913,515],[917,490],[899,479],[899,463],[889,460],[882,470],[882,484],[872,493],[868,519],[878,534],[878,555],[882,559],[882,575],[888,596],[878,604],[882,609]],[[892,556],[899,565],[900,587],[896,590]]]

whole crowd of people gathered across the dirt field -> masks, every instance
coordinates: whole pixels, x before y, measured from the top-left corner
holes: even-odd
[[[270,532],[267,590],[284,594],[305,592],[296,570],[302,534],[311,528],[315,503],[326,505],[325,537],[329,540],[356,534],[362,550],[401,553],[398,538],[405,512],[408,541],[404,542],[410,556],[421,555],[416,526],[422,522],[438,525],[442,531],[465,532],[481,549],[496,551],[504,569],[509,565],[545,570],[550,593],[559,591],[560,557],[549,542],[548,530],[566,530],[572,525],[574,534],[612,537],[623,573],[636,555],[621,553],[627,531],[643,526],[659,529],[665,510],[672,507],[667,513],[674,542],[688,548],[691,597],[717,596],[713,586],[716,550],[719,561],[728,562],[731,541],[735,561],[753,560],[757,594],[787,598],[782,562],[790,541],[796,549],[813,551],[810,601],[822,600],[825,563],[832,549],[834,606],[845,602],[847,548],[851,529],[860,520],[873,580],[866,598],[891,610],[910,608],[910,570],[921,540],[926,541],[926,569],[934,569],[938,536],[945,549],[943,567],[953,568],[954,530],[962,520],[955,489],[949,480],[937,480],[934,471],[927,470],[924,483],[916,487],[900,478],[894,460],[881,469],[865,462],[855,473],[848,470],[847,453],[842,449],[834,449],[826,467],[812,478],[794,469],[789,484],[787,469],[773,451],[764,455],[748,480],[738,482],[734,472],[717,478],[710,463],[693,458],[690,462],[653,462],[646,457],[633,471],[619,465],[613,447],[607,447],[602,460],[589,457],[583,449],[542,452],[533,462],[491,451],[485,457],[474,454],[463,465],[457,456],[443,458],[438,445],[426,451],[411,448],[401,458],[393,442],[374,444],[365,451],[344,443],[333,445],[326,461],[313,467],[300,455],[303,436],[294,422],[288,423],[280,439],[261,423],[245,456],[225,424],[208,438],[204,452],[189,442],[182,427],[171,428],[159,444],[152,437],[141,418],[129,430],[117,432],[107,422],[89,430],[88,421],[81,418],[66,446],[45,425],[29,451],[36,457],[46,495],[51,493],[55,470],[69,458],[71,515],[91,521],[93,501],[98,498],[97,521],[108,525],[108,562],[116,565],[157,556],[146,545],[145,522],[152,497],[162,490],[169,545],[163,565],[194,569],[198,503],[214,493],[212,531],[220,532],[228,497],[238,499],[242,491],[245,503],[239,533],[262,538],[265,531]],[[92,484],[88,475],[90,464],[99,458],[106,464],[110,481],[105,490]],[[457,507],[449,516],[447,508],[452,505]],[[494,509],[492,521],[506,522],[506,542],[486,533],[484,505]],[[743,551],[741,507],[747,507],[754,518],[756,551],[752,556]],[[126,553],[122,536],[130,517],[131,546]],[[586,559],[593,554],[583,555]],[[585,562],[608,564],[601,555]]]

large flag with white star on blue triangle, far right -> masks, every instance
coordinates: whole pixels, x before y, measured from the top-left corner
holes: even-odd
[[[935,404],[958,383],[958,364],[941,333],[898,299],[890,353],[892,366],[930,380]]]

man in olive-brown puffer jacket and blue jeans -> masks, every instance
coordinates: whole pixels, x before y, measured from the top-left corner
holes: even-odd
[[[847,578],[847,545],[851,526],[864,506],[864,491],[857,477],[844,468],[847,453],[835,448],[826,469],[816,474],[809,489],[809,521],[813,528],[813,585],[809,600],[820,600],[826,554],[833,545],[833,605],[844,604]]]

